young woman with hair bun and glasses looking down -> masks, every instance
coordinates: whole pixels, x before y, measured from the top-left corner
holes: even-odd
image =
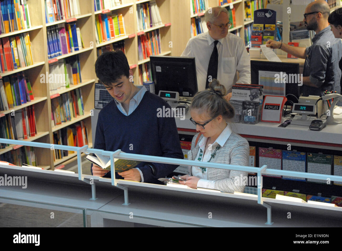
[[[188,159],[248,166],[248,141],[233,133],[229,126],[229,120],[234,117],[234,108],[224,99],[226,89],[216,79],[209,86],[209,89],[194,96],[190,107],[190,121],[196,125],[199,133],[192,140]],[[248,172],[196,166],[189,167],[189,173],[181,176],[185,181],[180,181],[180,184],[227,193],[244,192],[245,186],[240,184],[240,176],[248,175]]]

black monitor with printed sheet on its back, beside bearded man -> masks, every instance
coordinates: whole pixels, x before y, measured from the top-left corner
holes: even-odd
[[[264,96],[292,94],[299,98],[299,76],[299,63],[251,60],[251,84],[263,85]]]

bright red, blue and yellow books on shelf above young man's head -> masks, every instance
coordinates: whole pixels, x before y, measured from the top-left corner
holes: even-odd
[[[126,35],[122,14],[95,15],[96,43],[108,41]]]

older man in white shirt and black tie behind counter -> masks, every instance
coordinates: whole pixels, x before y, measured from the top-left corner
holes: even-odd
[[[206,89],[208,82],[215,78],[226,87],[229,100],[235,83],[251,83],[251,67],[244,40],[228,32],[231,25],[228,15],[228,11],[220,6],[207,10],[208,32],[191,38],[181,56],[195,57],[198,91]]]

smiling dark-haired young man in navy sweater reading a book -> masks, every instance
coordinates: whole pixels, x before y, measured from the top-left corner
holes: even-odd
[[[98,114],[95,149],[183,159],[173,117],[158,117],[157,109],[169,107],[163,99],[135,86],[126,56],[122,51],[105,52],[95,62],[95,72],[114,98]],[[136,168],[116,173],[116,178],[158,183],[176,165],[140,163]],[[110,177],[110,172],[93,165],[95,176]]]

